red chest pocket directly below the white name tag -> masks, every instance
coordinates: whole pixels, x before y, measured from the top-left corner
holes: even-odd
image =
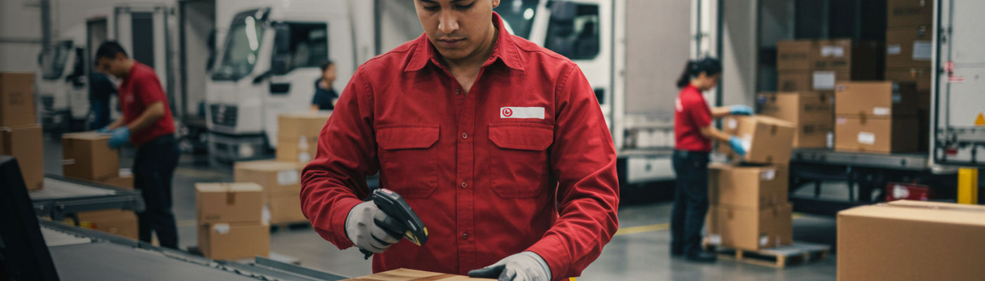
[[[548,147],[554,126],[536,123],[490,124],[490,176],[503,198],[537,197],[549,178]]]

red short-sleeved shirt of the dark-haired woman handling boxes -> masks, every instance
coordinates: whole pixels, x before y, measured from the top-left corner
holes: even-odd
[[[711,108],[701,91],[688,84],[674,101],[674,148],[711,152],[711,140],[701,135],[701,128],[711,125]]]

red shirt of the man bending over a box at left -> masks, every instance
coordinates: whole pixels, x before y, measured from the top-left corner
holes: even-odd
[[[155,102],[164,103],[164,116],[155,121],[151,127],[131,132],[130,142],[140,146],[147,141],[174,134],[174,120],[171,119],[171,107],[167,105],[167,95],[158,80],[158,75],[151,67],[134,61],[130,74],[123,79],[119,88],[120,103],[123,109],[123,121],[130,124],[137,120],[144,110]]]

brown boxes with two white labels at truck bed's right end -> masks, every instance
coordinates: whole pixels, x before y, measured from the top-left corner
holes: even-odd
[[[840,83],[835,92],[834,149],[909,152],[917,149],[917,97],[912,83]]]

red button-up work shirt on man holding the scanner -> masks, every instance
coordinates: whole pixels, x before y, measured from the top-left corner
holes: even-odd
[[[505,31],[468,94],[437,56],[422,35],[356,71],[304,169],[304,215],[352,247],[346,217],[378,171],[430,238],[373,255],[373,272],[467,274],[531,251],[555,280],[580,275],[618,229],[616,151],[592,87],[570,60]]]

